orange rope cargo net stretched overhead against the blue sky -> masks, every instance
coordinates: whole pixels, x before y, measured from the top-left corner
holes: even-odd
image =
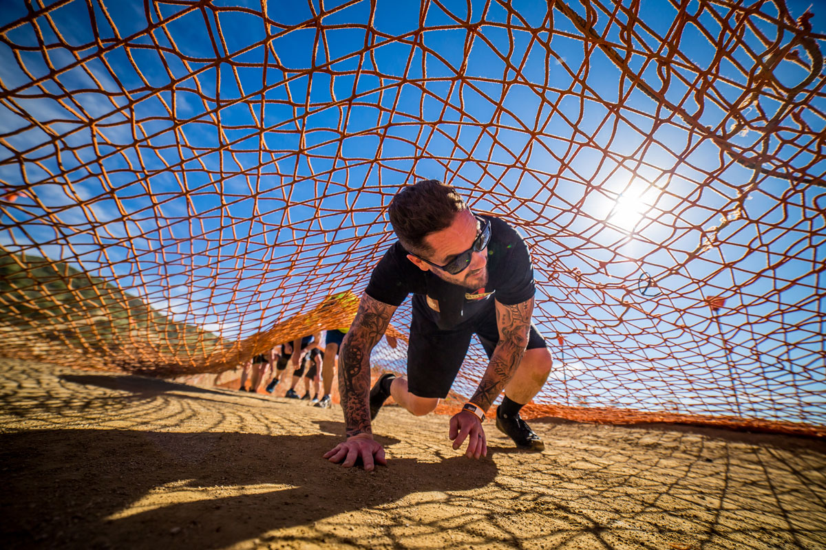
[[[392,195],[438,178],[525,236],[534,416],[826,434],[805,6],[286,3],[4,4],[2,355],[216,373],[347,326]]]

